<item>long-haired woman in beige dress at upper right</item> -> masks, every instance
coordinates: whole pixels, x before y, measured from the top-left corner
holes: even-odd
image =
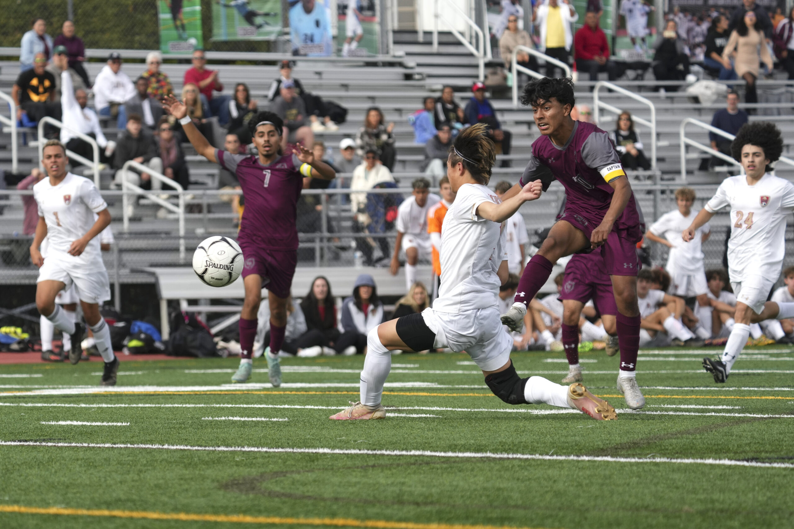
[[[745,0],[745,2],[748,1]],[[769,21],[769,17],[767,17],[767,21]],[[728,44],[725,44],[725,49],[723,49],[723,59],[730,59],[730,54],[734,50],[736,51],[734,68],[736,75],[747,82],[745,92],[745,102],[747,103],[758,102],[755,80],[758,79],[761,65],[759,59],[764,61],[770,73],[773,68],[772,56],[769,54],[769,48],[764,40],[764,33],[762,33],[763,26],[757,29],[756,27],[757,15],[754,11],[746,11],[745,16],[737,22],[736,28],[730,33]],[[761,50],[760,56],[759,49]]]

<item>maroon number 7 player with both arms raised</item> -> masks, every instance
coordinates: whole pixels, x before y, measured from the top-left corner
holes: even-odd
[[[270,291],[270,345],[264,357],[268,361],[270,382],[278,387],[281,385],[279,351],[287,328],[287,297],[298,263],[298,228],[295,225],[298,198],[304,180],[333,180],[337,174],[327,163],[314,159],[310,148],[303,145],[283,155],[280,147],[283,121],[274,113],[260,112],[249,122],[257,154],[233,155],[210,145],[187,117],[187,107],[173,95],[164,100],[163,107],[182,124],[198,154],[233,172],[240,181],[245,211],[237,243],[245,257],[241,274],[245,301],[240,314],[240,367],[232,375],[232,381],[245,382],[251,376],[256,314],[262,301],[262,289],[266,286]]]

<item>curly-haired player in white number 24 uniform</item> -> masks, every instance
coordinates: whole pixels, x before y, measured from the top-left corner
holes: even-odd
[[[719,360],[703,358],[703,368],[715,382],[728,379],[750,335],[750,324],[794,317],[794,303],[766,301],[781,275],[786,247],[786,216],[794,209],[794,185],[769,174],[770,163],[781,157],[783,138],[772,123],[743,125],[730,145],[730,154],[742,163],[744,175],[723,180],[689,228],[689,242],[714,214],[730,205],[728,275],[736,295],[733,330]]]

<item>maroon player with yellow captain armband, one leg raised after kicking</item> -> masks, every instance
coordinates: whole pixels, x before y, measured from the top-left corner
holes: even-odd
[[[544,189],[554,178],[565,187],[565,210],[526,265],[513,307],[502,316],[514,331],[523,326],[526,304],[545,284],[557,259],[600,247],[615,294],[616,328],[620,343],[618,390],[629,408],[645,405],[637,385],[640,339],[637,271],[641,264],[635,244],[645,231],[642,213],[607,132],[584,121],[573,121],[576,103],[571,79],[538,79],[524,87],[521,102],[531,105],[541,136],[532,144],[530,163],[511,197],[526,182],[540,178]]]

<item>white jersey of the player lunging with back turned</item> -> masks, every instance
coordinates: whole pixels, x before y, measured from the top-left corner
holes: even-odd
[[[441,225],[441,287],[433,303],[437,312],[495,308],[499,293],[496,270],[507,260],[499,224],[476,214],[483,202],[499,197],[481,184],[464,184]]]

